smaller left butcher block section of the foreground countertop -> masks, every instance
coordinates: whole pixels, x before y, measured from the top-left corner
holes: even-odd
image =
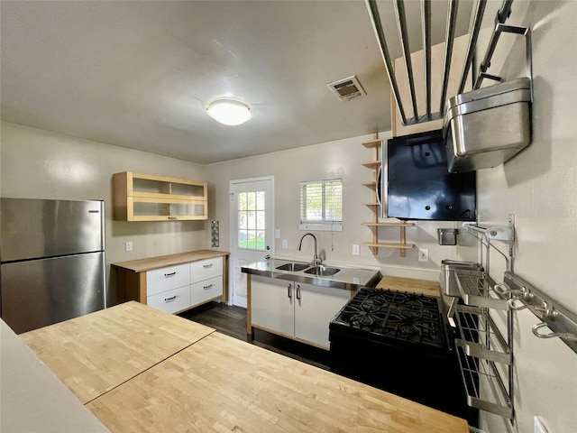
[[[131,301],[20,337],[86,403],[214,331]]]

